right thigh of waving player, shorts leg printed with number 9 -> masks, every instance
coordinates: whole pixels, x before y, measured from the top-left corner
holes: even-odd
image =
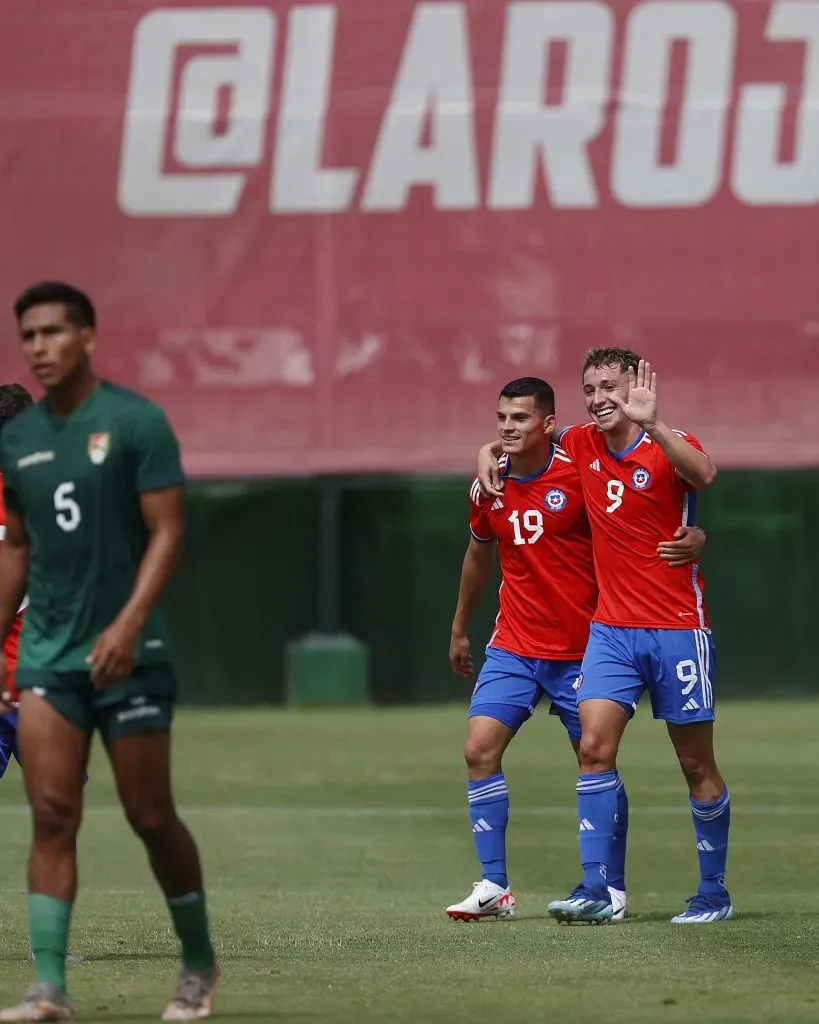
[[[713,722],[717,652],[710,634],[704,630],[644,633],[654,718],[683,726]]]

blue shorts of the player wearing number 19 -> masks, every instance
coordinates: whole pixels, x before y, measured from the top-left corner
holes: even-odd
[[[557,715],[572,739],[580,738],[575,687],[579,662],[552,662],[523,657],[498,647],[486,648],[469,717],[484,715],[517,732],[534,714],[543,696],[552,701],[550,715]]]

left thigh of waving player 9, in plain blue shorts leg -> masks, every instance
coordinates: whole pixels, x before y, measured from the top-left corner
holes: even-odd
[[[578,706],[608,700],[619,705],[629,718],[634,715],[646,686],[635,654],[634,633],[592,623],[576,684]]]

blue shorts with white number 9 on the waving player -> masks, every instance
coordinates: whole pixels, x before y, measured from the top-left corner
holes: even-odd
[[[644,690],[654,718],[713,722],[717,650],[707,630],[637,630],[592,623],[577,702],[614,700],[634,715]]]

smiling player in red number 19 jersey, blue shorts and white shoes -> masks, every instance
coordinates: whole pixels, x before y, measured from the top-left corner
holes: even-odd
[[[589,520],[577,469],[553,443],[555,397],[546,381],[523,377],[507,384],[498,403],[498,431],[505,454],[504,490],[486,500],[477,481],[470,493],[471,540],[464,558],[449,659],[472,674],[469,620],[501,558],[501,610],[486,659],[472,694],[464,754],[469,770],[472,833],[481,881],[446,908],[456,921],[511,916],[506,828],[509,792],[503,755],[543,696],[559,716],[575,752],[580,738],[576,687],[598,590]],[[670,531],[672,536],[674,531]],[[696,558],[704,537],[685,530],[672,545],[681,561]],[[626,835],[629,804],[617,790],[617,834],[609,870],[612,914],[628,914]]]

